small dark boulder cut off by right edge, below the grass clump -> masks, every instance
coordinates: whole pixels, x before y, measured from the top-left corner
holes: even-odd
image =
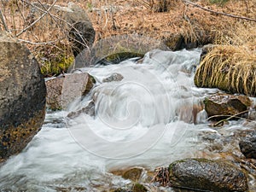
[[[256,131],[253,132],[251,137],[246,137],[239,142],[241,153],[246,158],[256,159]]]

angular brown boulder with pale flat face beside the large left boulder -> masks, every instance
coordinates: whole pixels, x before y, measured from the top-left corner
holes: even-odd
[[[95,79],[89,73],[68,73],[60,78],[47,80],[47,108],[67,108],[71,102],[88,94],[94,83]]]

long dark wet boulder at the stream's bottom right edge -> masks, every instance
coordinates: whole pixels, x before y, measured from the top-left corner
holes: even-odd
[[[206,159],[177,160],[169,166],[172,187],[206,191],[247,191],[247,177],[228,162]]]

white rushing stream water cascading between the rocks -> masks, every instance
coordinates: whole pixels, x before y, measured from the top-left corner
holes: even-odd
[[[152,50],[140,61],[76,71],[96,78],[90,96],[73,102],[65,111],[46,114],[38,135],[1,167],[0,189],[108,191],[131,183],[111,174],[112,170],[143,166],[153,171],[173,160],[206,156],[216,148],[230,150],[232,146],[225,148],[221,136],[249,128],[238,123],[220,130],[207,126],[200,103],[218,90],[195,87],[200,54],[201,49]],[[104,82],[113,73],[124,79]],[[95,116],[81,113],[67,118],[91,101],[95,102]],[[212,147],[212,141],[221,146]]]

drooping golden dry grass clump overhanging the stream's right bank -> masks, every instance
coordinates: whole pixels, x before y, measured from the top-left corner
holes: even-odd
[[[195,73],[199,87],[256,96],[256,52],[243,46],[219,45],[201,61]]]

